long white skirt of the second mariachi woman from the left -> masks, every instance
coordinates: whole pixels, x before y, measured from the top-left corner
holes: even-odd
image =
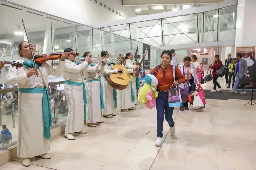
[[[69,113],[65,133],[80,132],[84,127],[83,86],[64,84]]]

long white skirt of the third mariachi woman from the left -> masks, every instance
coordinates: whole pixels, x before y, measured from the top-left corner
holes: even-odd
[[[101,121],[101,100],[100,100],[100,82],[86,82],[86,122],[97,123]]]

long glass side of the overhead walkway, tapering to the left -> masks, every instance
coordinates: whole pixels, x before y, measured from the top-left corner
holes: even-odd
[[[155,47],[235,41],[237,5],[213,11],[101,28]]]

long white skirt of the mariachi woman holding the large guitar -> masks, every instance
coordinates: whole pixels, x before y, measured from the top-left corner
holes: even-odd
[[[114,113],[114,109],[115,109],[113,87],[109,85],[109,83],[103,76],[101,76],[101,86],[102,86],[103,99],[104,99],[104,109],[102,110],[102,114],[110,115]]]

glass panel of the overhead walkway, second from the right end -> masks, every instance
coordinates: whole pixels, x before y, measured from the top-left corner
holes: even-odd
[[[217,41],[218,10],[204,12],[204,42]]]

